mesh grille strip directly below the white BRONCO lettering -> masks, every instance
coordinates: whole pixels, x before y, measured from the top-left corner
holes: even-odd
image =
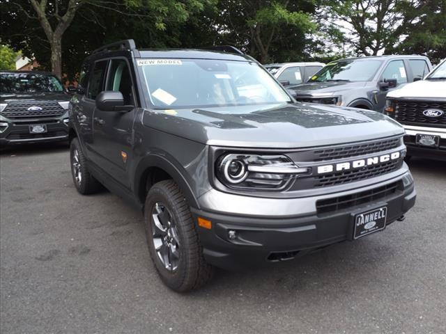
[[[339,172],[328,173],[316,176],[316,184],[314,186],[335,186],[337,184],[345,184],[359,180],[369,179],[378,175],[391,173],[401,168],[402,159],[386,161],[376,166],[367,166],[360,169],[341,170]]]

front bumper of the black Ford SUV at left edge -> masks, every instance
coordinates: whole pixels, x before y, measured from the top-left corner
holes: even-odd
[[[68,116],[60,118],[33,118],[26,120],[11,120],[2,118],[1,123],[7,124],[0,133],[0,146],[41,143],[68,140]],[[45,125],[47,131],[42,134],[31,134],[30,125]]]

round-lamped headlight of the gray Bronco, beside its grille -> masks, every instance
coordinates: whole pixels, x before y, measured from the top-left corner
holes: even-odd
[[[231,189],[282,190],[309,168],[284,155],[226,154],[216,163],[217,179]]]

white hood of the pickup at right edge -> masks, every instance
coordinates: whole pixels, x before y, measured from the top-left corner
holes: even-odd
[[[387,97],[446,97],[446,81],[420,80],[407,84],[400,89],[387,93]]]

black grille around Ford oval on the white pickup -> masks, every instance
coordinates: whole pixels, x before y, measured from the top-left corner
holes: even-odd
[[[427,117],[423,114],[426,109],[440,109],[444,113],[440,117]],[[395,120],[408,125],[446,127],[446,102],[397,100]]]

